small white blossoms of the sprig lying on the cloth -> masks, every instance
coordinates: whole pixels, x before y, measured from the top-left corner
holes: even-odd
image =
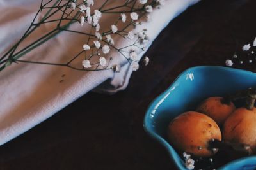
[[[131,2],[130,2],[131,3]],[[147,0],[139,0],[137,2],[138,8],[141,7],[141,12],[138,13],[136,11],[132,11],[130,13],[124,13],[120,11],[119,16],[117,17],[117,20],[115,24],[109,25],[109,31],[101,32],[100,31],[100,18],[102,18],[102,10],[100,9],[94,9],[93,8],[93,0],[90,1],[84,1],[83,4],[80,4],[77,6],[77,1],[73,1],[70,3],[70,8],[75,10],[76,8],[79,8],[79,11],[82,13],[80,17],[80,24],[81,27],[84,26],[84,24],[92,24],[92,27],[95,29],[95,39],[92,44],[85,43],[83,45],[83,50],[89,51],[93,50],[93,48],[97,49],[97,55],[99,56],[99,66],[106,67],[108,66],[107,59],[104,55],[108,55],[111,50],[118,50],[125,59],[129,61],[131,64],[132,70],[136,71],[139,68],[139,60],[140,57],[138,56],[138,52],[135,49],[131,49],[128,54],[124,54],[124,49],[130,46],[135,46],[136,48],[139,48],[141,50],[145,50],[145,46],[148,43],[149,37],[147,35],[147,29],[143,29],[143,31],[140,32],[134,32],[134,31],[126,31],[129,27],[129,25],[133,25],[136,27],[136,25],[140,25],[141,22],[138,22],[140,15],[147,14],[147,20],[150,18],[150,13],[152,13],[154,6],[163,5],[163,0],[156,0],[156,1],[147,1]],[[126,4],[129,4],[129,2],[126,2]],[[136,4],[136,1],[134,1],[134,4]],[[104,11],[104,10],[103,10]],[[122,25],[122,27],[119,27],[118,24]],[[124,26],[124,24],[126,24]],[[125,29],[124,29],[125,27]],[[112,38],[112,36],[123,36],[125,39],[134,40],[134,43],[132,45],[128,45],[127,47],[122,48],[115,48],[115,41]],[[90,58],[92,57],[93,53],[89,56],[85,56],[82,64],[85,69],[93,67],[94,64],[91,64]],[[145,65],[147,66],[149,62],[149,58],[145,57],[143,60],[145,62]],[[98,66],[97,66],[98,67]],[[117,68],[117,69],[116,69]],[[111,66],[111,69],[114,69],[115,71],[120,71],[120,66],[116,66],[116,64],[113,64]]]

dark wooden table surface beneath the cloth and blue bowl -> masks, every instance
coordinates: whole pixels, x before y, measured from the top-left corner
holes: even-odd
[[[149,66],[132,74],[127,89],[90,92],[1,146],[0,169],[175,169],[143,130],[147,106],[184,69],[225,66],[236,47],[233,67],[256,71],[256,55],[241,50],[256,36],[255,6],[216,0],[189,8],[159,34],[146,53]]]

